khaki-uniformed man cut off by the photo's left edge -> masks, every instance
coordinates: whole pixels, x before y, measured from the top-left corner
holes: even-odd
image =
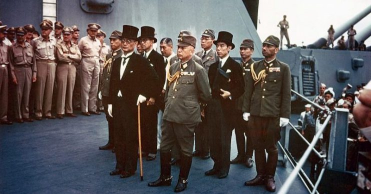
[[[7,25],[0,25],[0,123],[13,124],[7,118],[8,112],[8,45],[4,42]]]

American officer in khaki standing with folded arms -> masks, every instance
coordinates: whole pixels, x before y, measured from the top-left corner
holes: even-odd
[[[79,47],[71,41],[74,30],[64,27],[63,40],[57,43],[57,118],[76,117],[73,113],[72,95],[75,86],[76,66],[81,60]]]

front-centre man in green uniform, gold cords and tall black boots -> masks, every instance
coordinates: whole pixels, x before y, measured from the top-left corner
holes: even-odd
[[[170,66],[167,74],[168,85],[165,92],[165,110],[162,124],[161,175],[148,186],[171,184],[171,152],[174,144],[181,149],[181,164],[175,192],[187,187],[188,174],[192,164],[194,130],[201,122],[199,103],[211,98],[206,70],[192,59],[196,38],[184,35],[178,40],[180,61]]]

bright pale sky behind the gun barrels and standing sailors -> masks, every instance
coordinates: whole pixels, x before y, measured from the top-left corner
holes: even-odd
[[[259,0],[257,32],[260,39],[273,34],[279,37],[277,24],[287,15],[291,44],[308,45],[320,37],[327,37],[330,24],[340,26],[367,6],[371,0]],[[371,25],[371,14],[354,25],[357,33]],[[345,32],[346,34],[346,32]],[[345,40],[347,35],[345,35]],[[286,43],[283,38],[283,43]],[[302,44],[303,42],[303,44]],[[334,41],[336,45],[337,39]],[[371,45],[371,38],[365,41]]]

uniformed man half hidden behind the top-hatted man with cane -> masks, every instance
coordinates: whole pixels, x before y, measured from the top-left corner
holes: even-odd
[[[115,147],[115,135],[113,118],[108,114],[108,97],[110,91],[110,78],[113,62],[120,58],[122,55],[121,49],[121,35],[122,33],[118,30],[112,32],[110,36],[111,50],[106,55],[104,60],[104,68],[102,79],[99,86],[99,98],[102,99],[104,113],[106,113],[106,119],[108,121],[108,143],[106,145],[100,146],[99,149],[113,149]]]

